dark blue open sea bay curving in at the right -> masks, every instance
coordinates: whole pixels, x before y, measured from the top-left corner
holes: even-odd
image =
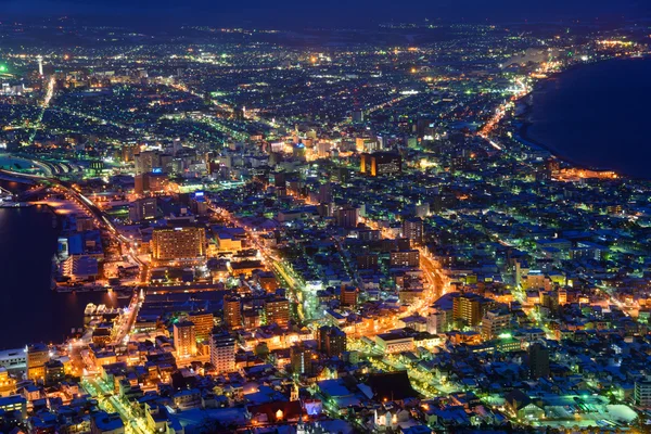
[[[651,59],[583,65],[533,94],[526,138],[586,167],[651,179]]]

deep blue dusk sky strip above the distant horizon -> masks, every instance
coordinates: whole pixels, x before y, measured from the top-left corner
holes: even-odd
[[[115,20],[166,17],[188,22],[250,21],[272,27],[275,23],[358,24],[387,18],[464,20],[567,20],[639,17],[651,10],[643,0],[328,0],[321,2],[282,0],[246,2],[208,0],[3,0],[2,9],[12,15],[69,14]]]

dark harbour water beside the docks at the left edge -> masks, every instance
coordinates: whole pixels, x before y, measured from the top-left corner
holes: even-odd
[[[84,326],[88,303],[118,304],[114,294],[51,290],[59,237],[52,221],[53,213],[43,206],[0,208],[0,349],[61,343],[72,328]]]

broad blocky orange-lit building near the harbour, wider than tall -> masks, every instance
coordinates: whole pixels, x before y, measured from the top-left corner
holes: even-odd
[[[206,231],[202,227],[155,228],[152,258],[157,263],[196,260],[206,254]]]

